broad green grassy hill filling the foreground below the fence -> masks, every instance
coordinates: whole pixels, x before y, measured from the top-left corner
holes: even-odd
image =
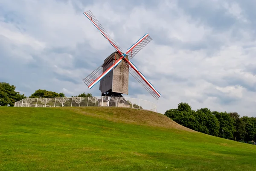
[[[247,171],[256,145],[118,107],[0,107],[0,170]]]

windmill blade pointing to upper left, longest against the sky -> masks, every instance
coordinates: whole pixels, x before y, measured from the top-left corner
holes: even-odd
[[[122,55],[121,51],[122,48],[118,46],[118,44],[110,37],[108,32],[103,28],[103,26],[99,23],[99,21],[94,17],[93,13],[89,10],[87,12],[84,12],[84,15],[93,23],[93,25],[101,32],[101,34],[108,40],[109,43],[116,49],[117,52],[119,52],[120,55]]]

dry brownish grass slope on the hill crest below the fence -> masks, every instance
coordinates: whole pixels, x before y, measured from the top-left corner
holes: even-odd
[[[71,110],[78,114],[84,114],[87,116],[93,116],[100,119],[106,119],[108,121],[127,123],[134,125],[145,125],[150,127],[160,128],[176,128],[179,130],[186,130],[190,132],[196,132],[182,125],[177,124],[172,119],[156,112],[147,110],[136,110],[131,108],[121,107],[76,107],[66,108],[65,110]]]

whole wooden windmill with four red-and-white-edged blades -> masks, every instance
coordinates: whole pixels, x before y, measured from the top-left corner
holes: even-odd
[[[102,96],[122,97],[122,94],[128,94],[128,75],[130,73],[148,91],[148,93],[158,100],[161,96],[160,93],[130,61],[152,40],[148,33],[128,48],[126,53],[123,53],[120,46],[113,41],[111,36],[105,31],[90,10],[84,12],[84,15],[116,50],[116,52],[113,52],[105,59],[102,65],[83,79],[84,83],[91,89],[100,81],[99,90],[101,90]]]

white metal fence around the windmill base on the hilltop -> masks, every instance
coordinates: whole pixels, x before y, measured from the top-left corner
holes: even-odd
[[[134,109],[157,112],[157,105],[151,101],[129,97],[61,97],[61,98],[28,98],[15,102],[15,107],[82,107],[109,106],[130,107]]]

